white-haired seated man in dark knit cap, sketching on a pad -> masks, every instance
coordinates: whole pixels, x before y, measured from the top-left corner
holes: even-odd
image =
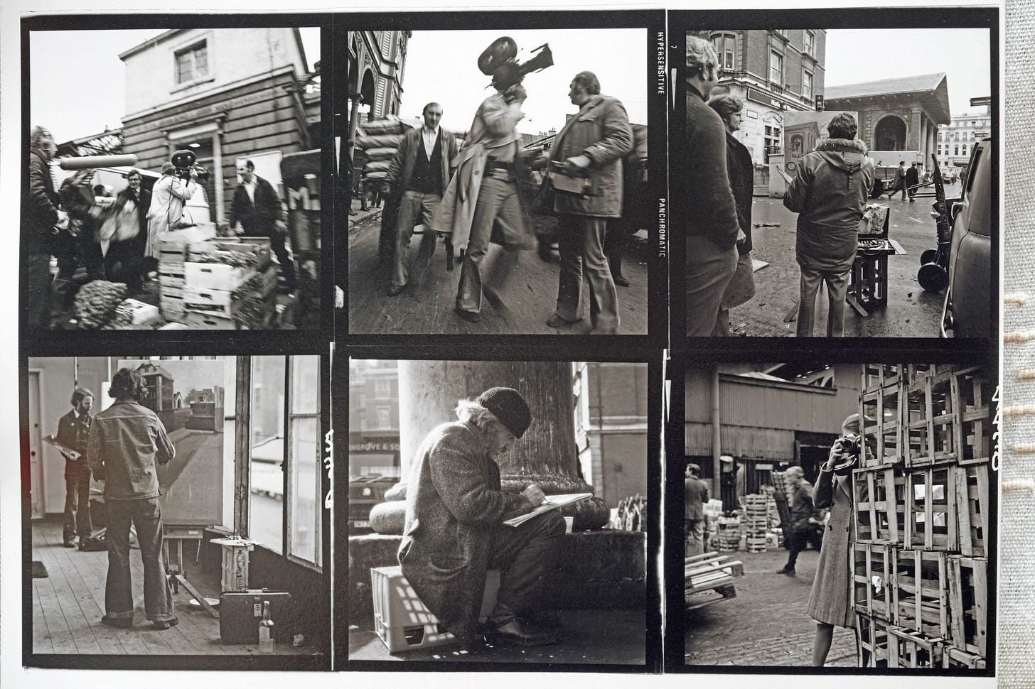
[[[554,541],[564,519],[552,510],[519,527],[504,525],[544,496],[535,484],[504,492],[496,462],[531,424],[528,405],[512,388],[490,388],[462,400],[456,416],[434,428],[414,455],[398,549],[403,575],[461,645],[472,648],[485,573],[499,569],[487,635],[522,646],[555,642],[556,634],[527,616],[538,606],[544,573],[556,567]]]

